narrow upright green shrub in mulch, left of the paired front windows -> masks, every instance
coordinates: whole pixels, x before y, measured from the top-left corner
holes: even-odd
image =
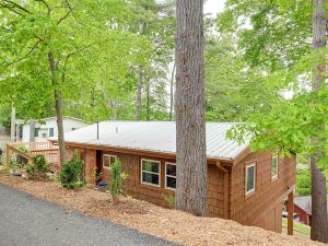
[[[128,175],[121,173],[120,169],[120,161],[110,164],[110,173],[112,173],[112,181],[110,181],[110,195],[113,197],[114,202],[118,201],[119,195],[121,195],[121,183],[122,180],[128,178]]]

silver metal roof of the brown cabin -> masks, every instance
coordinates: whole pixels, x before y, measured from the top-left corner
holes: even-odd
[[[207,122],[207,156],[218,160],[234,160],[246,148],[226,139],[232,122]],[[174,121],[104,121],[65,134],[67,142],[125,148],[175,154],[176,126]]]

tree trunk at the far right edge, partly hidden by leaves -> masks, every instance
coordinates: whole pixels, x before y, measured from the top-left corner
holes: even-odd
[[[313,92],[316,93],[320,84],[325,83],[327,70],[325,54],[320,51],[326,47],[327,17],[325,17],[324,0],[315,0],[315,13],[313,15],[313,48],[318,50],[317,61],[314,66]],[[324,126],[323,126],[323,130]],[[321,141],[313,138],[313,143],[318,145]],[[323,157],[320,150],[311,156],[312,175],[312,221],[311,238],[328,243],[328,216],[327,216],[327,191],[326,177],[323,169],[317,167],[317,162]]]

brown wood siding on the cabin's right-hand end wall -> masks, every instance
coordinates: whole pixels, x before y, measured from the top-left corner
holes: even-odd
[[[250,163],[256,163],[256,185],[255,192],[246,196],[245,166]],[[233,166],[230,178],[230,219],[279,232],[281,229],[277,222],[281,221],[282,197],[295,184],[295,157],[279,157],[278,172],[278,179],[271,180],[270,153],[250,153]]]

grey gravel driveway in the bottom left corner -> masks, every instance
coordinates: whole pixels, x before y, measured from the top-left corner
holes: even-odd
[[[0,185],[0,246],[175,245]]]

